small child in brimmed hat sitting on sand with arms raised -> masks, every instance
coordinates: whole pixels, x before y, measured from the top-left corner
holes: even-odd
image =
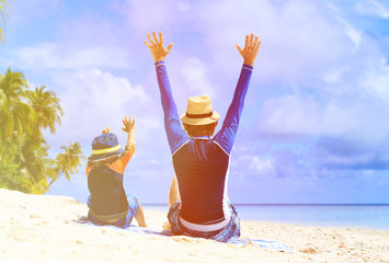
[[[92,155],[88,158],[87,176],[90,196],[88,219],[96,225],[127,228],[133,218],[140,227],[147,227],[144,209],[138,199],[126,195],[123,187],[124,170],[135,152],[135,118],[125,116],[124,127],[128,139],[124,151],[110,128],[92,141]]]

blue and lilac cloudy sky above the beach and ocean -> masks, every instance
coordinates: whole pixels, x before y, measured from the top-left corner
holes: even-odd
[[[262,42],[230,161],[228,194],[244,204],[389,203],[389,3],[384,0],[10,0],[0,72],[22,71],[64,108],[50,155],[136,117],[124,185],[167,203],[174,171],[153,60],[142,43],[173,43],[167,68],[180,113],[209,95],[226,115],[245,34]],[[218,128],[220,128],[220,123]],[[218,129],[217,128],[217,129]],[[50,195],[85,202],[84,165]]]

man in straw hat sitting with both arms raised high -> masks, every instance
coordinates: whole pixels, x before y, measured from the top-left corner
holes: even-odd
[[[208,96],[188,99],[186,113],[181,116],[184,129],[181,127],[164,64],[173,45],[165,48],[162,33],[159,39],[156,32],[152,34],[153,38],[148,34],[149,43],[145,44],[156,61],[164,127],[179,186],[178,193],[173,179],[168,214],[172,232],[217,241],[239,237],[240,221],[227,196],[229,157],[261,42],[251,34],[245,36],[243,49],[237,45],[244,59],[243,67],[222,127],[211,138],[220,116],[213,111]]]

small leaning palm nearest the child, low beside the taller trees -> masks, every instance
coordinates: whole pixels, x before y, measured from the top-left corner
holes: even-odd
[[[85,160],[79,142],[71,144],[71,141],[69,141],[69,147],[62,146],[61,149],[65,150],[65,152],[57,155],[55,160],[56,173],[52,178],[52,182],[48,184],[48,187],[62,174],[65,174],[66,179],[70,181],[70,175],[78,173],[78,167],[80,167],[82,161]]]

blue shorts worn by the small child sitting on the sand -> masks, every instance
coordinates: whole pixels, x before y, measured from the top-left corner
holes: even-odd
[[[115,226],[115,227],[119,227],[119,228],[127,228],[131,224],[133,218],[135,217],[135,215],[139,208],[138,199],[134,195],[127,195],[127,201],[128,201],[127,216],[118,219],[115,222],[102,221],[102,220],[98,219],[95,216],[93,216],[90,210],[88,213],[88,219],[98,226],[111,225],[111,226]],[[90,207],[91,196],[88,197],[87,204],[88,204],[88,207]]]

